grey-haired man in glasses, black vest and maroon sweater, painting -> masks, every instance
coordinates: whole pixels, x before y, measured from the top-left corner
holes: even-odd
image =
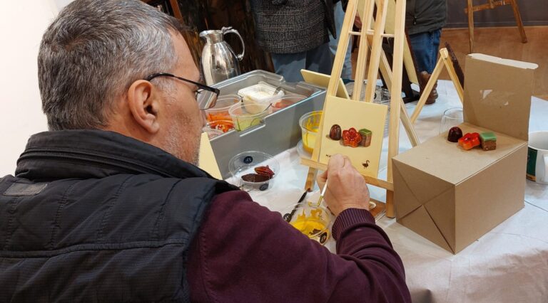
[[[318,179],[338,255],[193,165],[218,92],[177,28],[141,1],[76,0],[44,33],[50,132],[0,180],[0,302],[410,301],[348,159]]]

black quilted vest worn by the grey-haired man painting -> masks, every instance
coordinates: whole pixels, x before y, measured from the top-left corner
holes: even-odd
[[[0,179],[0,302],[188,302],[188,247],[235,189],[114,132],[43,132]]]

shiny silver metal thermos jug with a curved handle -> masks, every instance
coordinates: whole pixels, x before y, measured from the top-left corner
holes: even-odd
[[[242,42],[242,53],[236,55],[228,43],[224,41],[227,33],[235,33]],[[222,80],[240,75],[238,60],[242,60],[245,45],[240,33],[232,27],[223,27],[220,31],[203,31],[200,37],[205,39],[202,50],[202,69],[205,84],[212,85]]]

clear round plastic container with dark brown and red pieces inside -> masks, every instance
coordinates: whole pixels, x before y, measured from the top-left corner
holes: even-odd
[[[260,166],[268,166],[268,168],[274,172],[274,175],[265,181],[246,181],[245,176],[248,174],[256,174],[255,168]],[[278,176],[280,164],[273,156],[270,156],[270,154],[266,154],[263,151],[244,151],[233,156],[232,159],[228,161],[228,169],[238,183],[236,185],[265,191],[272,186],[274,179]]]

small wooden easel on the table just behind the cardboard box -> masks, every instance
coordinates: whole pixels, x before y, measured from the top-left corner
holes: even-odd
[[[453,85],[455,85],[455,89],[457,90],[457,95],[459,95],[460,102],[463,103],[465,100],[464,76],[462,75],[462,70],[460,70],[460,65],[458,65],[457,57],[454,53],[452,53],[450,46],[447,43],[445,44],[445,46],[445,48],[440,49],[440,58],[437,59],[436,67],[434,68],[434,71],[432,71],[432,75],[430,76],[430,79],[428,80],[425,89],[422,91],[422,95],[420,95],[420,99],[419,102],[417,102],[415,111],[411,115],[412,123],[415,123],[417,117],[419,117],[420,111],[422,110],[422,107],[425,106],[428,95],[430,95],[430,92],[432,91],[432,88],[434,87],[437,78],[440,78],[440,73],[442,73],[442,69],[444,68],[444,66],[445,68],[447,68],[447,73],[449,73]]]

